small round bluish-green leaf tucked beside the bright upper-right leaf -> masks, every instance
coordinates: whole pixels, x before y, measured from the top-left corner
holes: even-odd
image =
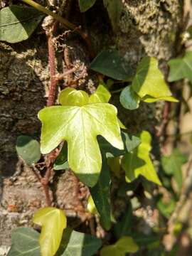
[[[139,107],[140,98],[131,86],[122,90],[120,98],[121,105],[127,110],[136,110]]]

